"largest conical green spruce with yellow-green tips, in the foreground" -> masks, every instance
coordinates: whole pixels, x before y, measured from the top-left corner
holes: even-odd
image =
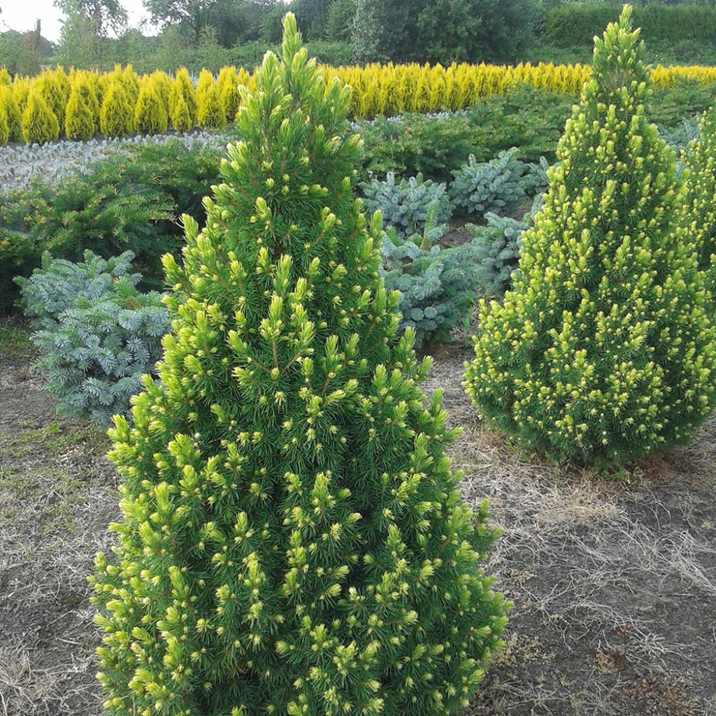
[[[349,90],[284,30],[205,228],[185,216],[165,257],[160,380],[111,432],[123,519],[91,581],[112,714],[449,713],[501,645],[497,531],[460,501],[430,360],[395,340]]]

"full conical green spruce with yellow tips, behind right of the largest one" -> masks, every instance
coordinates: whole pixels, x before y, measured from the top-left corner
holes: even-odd
[[[624,7],[559,143],[514,287],[483,302],[465,386],[553,460],[601,466],[685,442],[715,402],[715,332],[679,228],[673,153],[644,115],[649,69]]]

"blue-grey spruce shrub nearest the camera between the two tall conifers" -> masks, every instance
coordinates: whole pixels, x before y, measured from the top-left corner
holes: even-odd
[[[448,228],[435,226],[434,216],[435,205],[422,235],[400,238],[395,228],[387,228],[380,247],[385,287],[400,291],[401,329],[414,329],[419,346],[450,340],[473,304],[479,269],[470,244],[436,245]]]

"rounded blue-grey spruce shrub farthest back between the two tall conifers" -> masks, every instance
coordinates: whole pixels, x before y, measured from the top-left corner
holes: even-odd
[[[488,211],[504,212],[522,203],[528,189],[535,189],[531,165],[516,157],[516,150],[500,152],[489,162],[478,162],[471,154],[467,164],[453,172],[450,198],[455,208],[470,216]]]

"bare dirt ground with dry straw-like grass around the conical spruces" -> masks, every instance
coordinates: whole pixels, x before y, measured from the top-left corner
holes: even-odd
[[[553,468],[476,422],[469,357],[438,355],[428,389],[465,427],[453,459],[505,526],[489,569],[516,606],[468,716],[715,716],[716,420],[619,480]],[[117,479],[29,362],[0,341],[0,716],[98,716],[86,576]]]

